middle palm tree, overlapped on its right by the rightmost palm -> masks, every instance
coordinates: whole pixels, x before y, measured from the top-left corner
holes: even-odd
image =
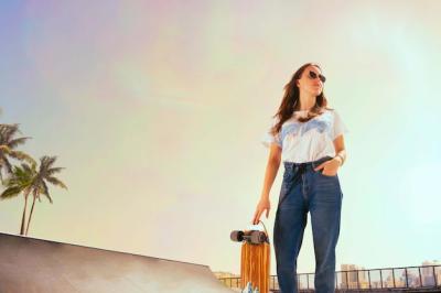
[[[0,195],[0,199],[9,199],[23,193],[24,208],[21,218],[20,235],[24,235],[28,196],[31,192],[32,181],[36,174],[35,165],[21,164],[21,166],[13,166],[11,176],[6,181],[6,189]]]

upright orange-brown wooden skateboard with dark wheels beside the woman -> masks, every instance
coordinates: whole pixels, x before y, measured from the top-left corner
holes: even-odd
[[[240,287],[243,292],[268,293],[270,272],[270,242],[267,228],[265,231],[234,230],[230,239],[241,242],[240,252]],[[254,291],[250,291],[254,289]]]

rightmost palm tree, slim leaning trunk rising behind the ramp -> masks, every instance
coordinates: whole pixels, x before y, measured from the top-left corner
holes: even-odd
[[[41,203],[40,195],[43,194],[45,197],[47,197],[49,202],[52,204],[52,198],[51,195],[49,194],[47,183],[67,189],[67,186],[61,180],[54,176],[54,174],[60,173],[64,169],[64,167],[53,167],[52,165],[55,163],[55,161],[56,156],[44,155],[40,159],[40,170],[33,177],[31,184],[31,193],[33,196],[33,202],[32,202],[31,214],[29,215],[28,219],[25,235],[28,235],[29,226],[31,224],[32,213],[34,211],[34,206],[35,206],[35,199],[39,198],[39,202]]]

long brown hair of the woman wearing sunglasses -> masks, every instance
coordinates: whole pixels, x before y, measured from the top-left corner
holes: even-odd
[[[298,79],[300,79],[304,69],[310,65],[320,68],[320,66],[315,63],[306,63],[306,64],[302,65],[299,69],[297,69],[297,72],[292,75],[291,80],[284,86],[284,95],[283,95],[282,102],[280,104],[280,107],[279,107],[279,110],[277,111],[277,113],[272,117],[272,118],[276,118],[276,117],[278,118],[278,120],[277,120],[278,122],[273,126],[273,128],[271,130],[273,134],[276,134],[277,132],[280,131],[283,122],[287,121],[288,119],[290,119],[292,117],[292,113],[295,110],[300,109],[300,90],[299,90],[299,87],[297,86],[295,82]],[[312,109],[310,111],[308,111],[308,116],[304,118],[302,118],[302,117],[298,118],[298,121],[306,122],[306,121],[311,120],[312,118],[321,115],[324,109],[332,110],[331,108],[327,108],[326,106],[327,106],[327,100],[322,90],[322,93],[319,96],[316,96],[316,98],[315,98],[315,105],[312,107]]]

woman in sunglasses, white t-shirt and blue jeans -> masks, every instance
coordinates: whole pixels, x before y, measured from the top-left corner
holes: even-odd
[[[252,224],[270,210],[269,193],[283,162],[284,173],[273,229],[277,275],[282,293],[298,292],[297,258],[308,213],[315,252],[315,292],[334,292],[335,246],[340,234],[343,193],[337,171],[346,159],[338,113],[327,108],[325,77],[316,64],[300,67],[284,87],[284,96],[265,140],[270,154],[263,188]]]

